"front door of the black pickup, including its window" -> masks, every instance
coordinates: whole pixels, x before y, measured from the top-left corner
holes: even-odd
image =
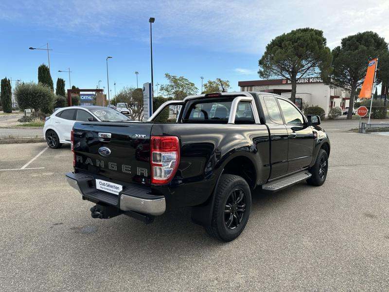
[[[312,162],[315,136],[300,110],[291,102],[278,98],[288,131],[288,173],[309,166]]]

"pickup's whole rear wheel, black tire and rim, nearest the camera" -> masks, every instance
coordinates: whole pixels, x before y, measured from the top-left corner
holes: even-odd
[[[206,231],[221,241],[231,241],[245,229],[250,215],[251,192],[240,176],[223,174],[216,188],[211,226]]]

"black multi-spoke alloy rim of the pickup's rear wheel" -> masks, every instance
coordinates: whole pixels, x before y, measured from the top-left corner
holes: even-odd
[[[224,208],[224,223],[228,229],[235,229],[242,222],[246,211],[246,195],[242,189],[234,189]]]

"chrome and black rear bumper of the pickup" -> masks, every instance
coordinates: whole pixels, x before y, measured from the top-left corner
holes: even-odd
[[[68,172],[65,176],[69,185],[80,192],[83,199],[103,202],[122,211],[162,215],[166,210],[165,197],[151,194],[151,188],[135,183],[127,184],[119,195],[97,190],[95,178],[88,174]]]

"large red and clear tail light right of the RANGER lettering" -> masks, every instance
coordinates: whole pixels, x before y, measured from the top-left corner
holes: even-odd
[[[169,183],[179,164],[179,141],[176,136],[151,136],[151,183]]]

